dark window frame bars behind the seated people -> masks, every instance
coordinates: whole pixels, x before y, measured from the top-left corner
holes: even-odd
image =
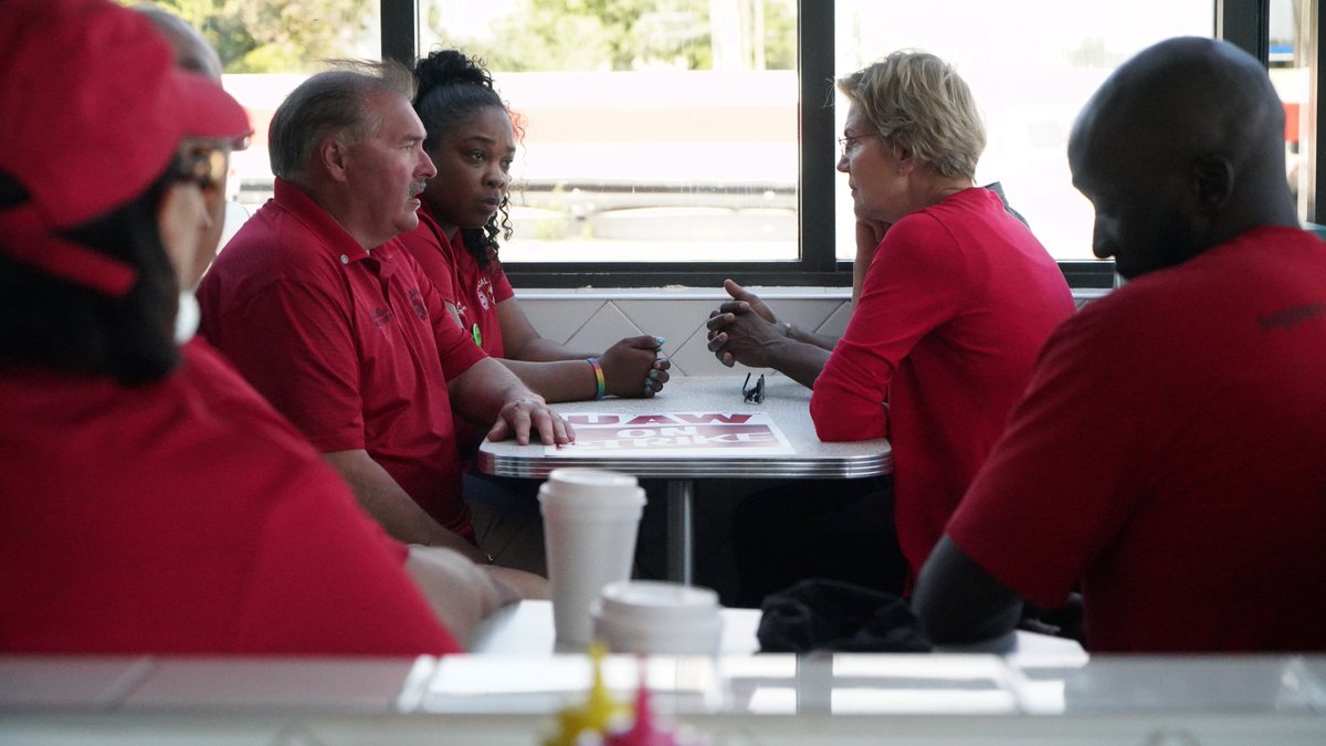
[[[416,0],[379,0],[382,54],[407,65],[419,53]],[[524,288],[654,288],[721,287],[724,277],[740,277],[751,285],[851,287],[851,261],[839,261],[835,248],[834,178],[837,173],[834,112],[818,102],[833,101],[834,80],[833,0],[800,0],[797,57],[800,72],[800,131],[802,138],[798,177],[798,243],[801,259],[793,261],[715,261],[696,265],[676,261],[518,261],[505,265],[512,284]],[[1216,0],[1215,35],[1246,49],[1268,65],[1270,0]],[[1321,21],[1318,21],[1319,24]],[[1313,80],[1315,76],[1315,44]],[[1314,98],[1318,105],[1321,97]],[[1315,121],[1315,119],[1314,119]],[[1315,145],[1315,133],[1310,133]],[[1314,149],[1315,173],[1326,173],[1322,149]],[[1315,195],[1315,178],[1310,185]],[[1326,208],[1326,206],[1322,206]],[[1310,212],[1321,219],[1321,211]],[[1110,288],[1114,263],[1061,260],[1059,269],[1071,288]]]

